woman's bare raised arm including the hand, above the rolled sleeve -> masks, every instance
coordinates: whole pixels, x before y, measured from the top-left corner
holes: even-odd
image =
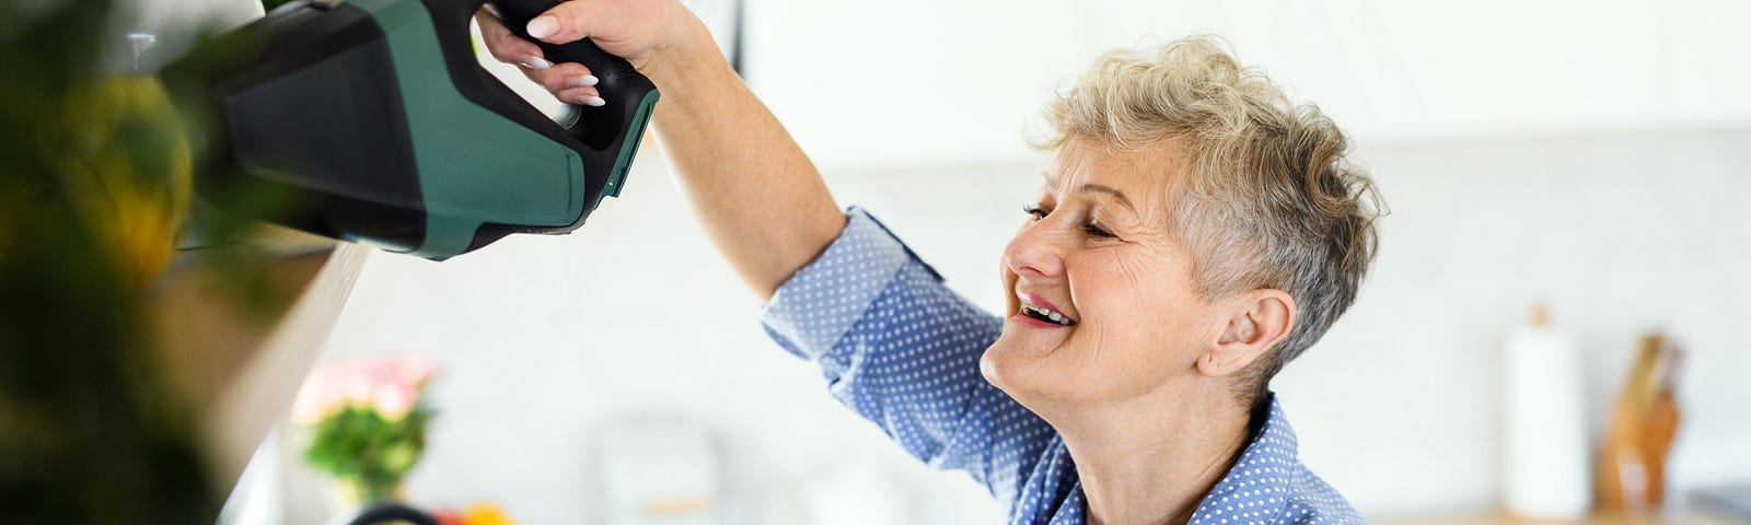
[[[499,61],[522,65],[560,100],[597,96],[588,68],[550,65],[496,18],[476,19]],[[693,217],[762,303],[844,229],[821,173],[679,2],[571,0],[531,21],[529,35],[553,44],[588,37],[657,84],[657,140]]]

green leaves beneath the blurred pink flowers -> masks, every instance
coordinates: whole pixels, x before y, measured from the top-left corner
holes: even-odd
[[[392,499],[396,486],[425,450],[425,424],[431,416],[432,411],[424,402],[399,420],[385,418],[371,408],[345,406],[312,427],[305,460],[336,480],[354,483],[359,502]]]

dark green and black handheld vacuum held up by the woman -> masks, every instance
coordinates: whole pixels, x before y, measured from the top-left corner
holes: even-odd
[[[214,206],[392,252],[447,259],[511,233],[569,233],[618,196],[657,103],[588,40],[546,46],[601,79],[606,107],[548,117],[480,66],[483,0],[280,5],[161,72],[205,156]],[[518,35],[550,0],[492,0]],[[532,38],[531,38],[532,40]]]

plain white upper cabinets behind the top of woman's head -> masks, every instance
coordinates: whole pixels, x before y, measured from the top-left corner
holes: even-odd
[[[1364,142],[1751,119],[1732,0],[753,0],[749,82],[826,166],[1017,161],[1101,51],[1229,38]]]

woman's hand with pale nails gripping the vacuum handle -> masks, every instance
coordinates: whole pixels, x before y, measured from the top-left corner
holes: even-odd
[[[485,9],[475,12],[487,51],[503,63],[518,65],[536,84],[569,103],[602,105],[597,79],[581,63],[552,63],[534,42],[518,38]],[[625,58],[634,68],[658,77],[676,61],[695,56],[704,24],[676,0],[571,0],[529,21],[525,32],[548,44],[590,38],[602,51]],[[709,40],[709,37],[706,38]],[[707,46],[709,47],[709,46]]]

